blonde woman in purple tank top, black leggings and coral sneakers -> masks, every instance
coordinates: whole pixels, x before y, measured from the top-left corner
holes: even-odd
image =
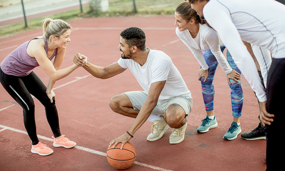
[[[44,19],[43,35],[21,44],[1,62],[0,82],[5,90],[23,108],[24,125],[32,142],[31,152],[46,156],[53,153],[47,145],[40,143],[36,134],[34,101],[36,97],[45,108],[46,118],[52,130],[54,147],[72,148],[76,145],[60,133],[58,112],[55,105],[55,93],[52,91],[56,80],[60,80],[82,65],[73,64],[60,69],[66,47],[70,42],[72,27],[60,19]],[[54,58],[54,61],[51,60]],[[50,77],[46,87],[33,72],[40,66]]]

